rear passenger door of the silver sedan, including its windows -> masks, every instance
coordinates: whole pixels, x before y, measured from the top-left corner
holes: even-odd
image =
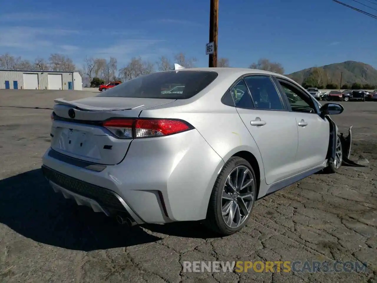
[[[250,75],[230,88],[236,109],[254,138],[268,185],[290,177],[296,170],[298,134],[296,119],[287,111],[268,75]]]

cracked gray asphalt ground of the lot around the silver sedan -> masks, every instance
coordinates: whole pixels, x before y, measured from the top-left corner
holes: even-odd
[[[218,238],[198,223],[127,229],[49,188],[40,166],[51,110],[41,108],[91,95],[0,91],[0,282],[377,281],[377,103],[345,102],[334,116],[343,132],[354,126],[351,159],[369,168],[312,175],[257,201],[241,232]],[[360,260],[370,271],[185,273],[185,260]]]

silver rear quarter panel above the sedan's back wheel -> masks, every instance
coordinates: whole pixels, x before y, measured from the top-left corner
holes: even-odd
[[[229,80],[229,86],[233,82]],[[199,98],[196,100],[193,97],[149,108],[143,110],[140,117],[178,118],[189,122],[224,162],[239,151],[248,151],[256,158],[261,179],[264,179],[261,154],[253,137],[236,108],[221,103],[226,89],[223,85],[207,88],[202,91],[205,95],[198,94]]]

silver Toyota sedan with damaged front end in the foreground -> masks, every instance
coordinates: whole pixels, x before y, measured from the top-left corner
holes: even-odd
[[[169,85],[184,88],[163,93]],[[321,106],[271,72],[156,72],[55,103],[45,177],[55,192],[129,225],[202,220],[230,235],[256,200],[342,165],[329,115],[343,107]]]

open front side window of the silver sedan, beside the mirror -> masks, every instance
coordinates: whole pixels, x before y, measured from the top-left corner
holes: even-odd
[[[310,101],[305,94],[303,94],[299,89],[294,86],[282,82],[279,80],[280,86],[282,87],[285,95],[287,95],[289,103],[291,105],[292,111],[296,112],[315,112],[313,102]],[[312,111],[311,111],[312,110]]]

